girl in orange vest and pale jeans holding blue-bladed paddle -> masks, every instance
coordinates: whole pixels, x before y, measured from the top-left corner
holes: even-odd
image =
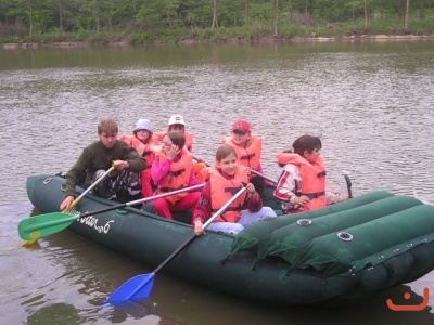
[[[238,164],[235,150],[222,144],[216,153],[216,165],[209,169],[209,180],[202,190],[201,198],[193,212],[192,223],[196,235],[204,234],[203,224],[219,210],[243,183],[248,182],[248,170]],[[208,225],[208,230],[238,234],[245,226],[276,217],[269,207],[263,207],[263,199],[252,183],[246,185],[246,192],[235,199],[220,217]]]

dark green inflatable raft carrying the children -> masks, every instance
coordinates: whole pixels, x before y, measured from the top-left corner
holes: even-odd
[[[43,213],[58,212],[63,183],[59,176],[29,177],[31,204]],[[266,203],[278,207],[271,198]],[[115,205],[87,195],[76,209],[85,213]],[[193,234],[187,213],[175,219],[126,207],[77,219],[68,229],[156,266]],[[376,191],[323,209],[279,216],[235,237],[208,231],[164,271],[266,303],[339,307],[413,282],[433,269],[434,207]]]

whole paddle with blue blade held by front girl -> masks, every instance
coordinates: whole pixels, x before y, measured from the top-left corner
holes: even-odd
[[[203,227],[207,227],[218,216],[220,216],[240,195],[244,193],[246,187],[242,187],[226,205],[224,205],[213,217],[210,217]],[[116,291],[105,300],[105,303],[120,303],[127,300],[140,300],[146,298],[154,284],[155,274],[169,263],[184,247],[193,242],[197,236],[193,233],[181,246],[177,248],[154,272],[149,274],[140,274],[131,277],[124,283]]]

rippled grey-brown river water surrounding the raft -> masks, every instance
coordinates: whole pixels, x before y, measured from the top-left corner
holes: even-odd
[[[345,309],[261,306],[158,273],[149,300],[100,307],[153,269],[64,231],[22,248],[17,223],[35,211],[26,178],[66,172],[115,117],[119,133],[182,114],[194,155],[213,161],[238,118],[264,139],[263,166],[304,133],[320,134],[328,187],[373,190],[434,204],[434,42],[305,42],[0,50],[0,312],[4,324],[431,324],[434,273]],[[212,281],[212,280],[209,280]],[[420,312],[385,300],[411,291]],[[400,300],[399,300],[400,299]],[[418,300],[419,299],[419,300]],[[407,302],[408,303],[408,302]]]

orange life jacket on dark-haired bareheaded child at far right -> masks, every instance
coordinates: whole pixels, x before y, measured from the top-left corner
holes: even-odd
[[[307,161],[298,154],[280,153],[276,157],[279,164],[292,164],[299,167],[302,188],[295,195],[305,195],[310,199],[308,204],[303,206],[303,210],[309,211],[327,206],[326,168],[321,156],[314,164]]]

